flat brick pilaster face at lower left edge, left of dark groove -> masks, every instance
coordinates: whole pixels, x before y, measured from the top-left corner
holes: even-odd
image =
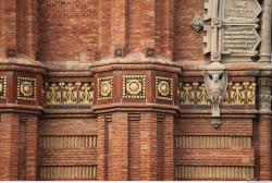
[[[0,123],[0,180],[17,180],[18,115],[3,113]]]

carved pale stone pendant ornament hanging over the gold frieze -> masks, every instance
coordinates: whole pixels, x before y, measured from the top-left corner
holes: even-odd
[[[225,66],[219,62],[209,64],[205,71],[205,85],[212,105],[212,122],[213,127],[219,129],[220,105],[227,88],[227,73]]]

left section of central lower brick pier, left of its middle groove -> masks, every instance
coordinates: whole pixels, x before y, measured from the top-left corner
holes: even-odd
[[[98,118],[98,180],[128,180],[127,113]]]

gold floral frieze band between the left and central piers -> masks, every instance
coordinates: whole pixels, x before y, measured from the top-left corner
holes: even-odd
[[[46,83],[46,105],[92,105],[94,86],[89,82]]]

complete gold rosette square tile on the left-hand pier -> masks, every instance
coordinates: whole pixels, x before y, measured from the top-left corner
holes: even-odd
[[[17,99],[36,100],[36,78],[17,77]]]

